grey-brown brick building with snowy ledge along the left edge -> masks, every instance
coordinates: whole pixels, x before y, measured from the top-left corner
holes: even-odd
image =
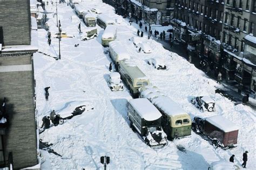
[[[7,119],[0,131],[0,167],[12,162],[21,169],[38,164],[32,58],[38,49],[37,24],[29,0],[2,0],[0,11],[0,103],[6,99]]]

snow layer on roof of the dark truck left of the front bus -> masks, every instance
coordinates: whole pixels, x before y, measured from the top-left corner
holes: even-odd
[[[134,110],[147,121],[157,120],[162,116],[157,108],[145,98],[132,99],[129,103]]]

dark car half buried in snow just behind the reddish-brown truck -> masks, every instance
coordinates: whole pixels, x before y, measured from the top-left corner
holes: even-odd
[[[191,100],[191,103],[195,105],[197,108],[200,109],[201,112],[208,111],[213,112],[215,111],[215,100],[208,96],[199,96],[195,97]]]

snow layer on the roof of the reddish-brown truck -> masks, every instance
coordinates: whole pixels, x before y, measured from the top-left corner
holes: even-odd
[[[206,118],[210,124],[220,128],[224,132],[232,132],[239,130],[239,127],[232,123],[230,120],[222,117],[221,115],[213,115],[212,117]]]

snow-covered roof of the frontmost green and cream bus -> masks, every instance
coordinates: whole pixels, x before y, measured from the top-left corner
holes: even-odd
[[[180,114],[187,114],[183,108],[181,108],[177,103],[175,103],[167,96],[160,96],[158,98],[152,99],[152,103],[169,116],[174,117]]]

